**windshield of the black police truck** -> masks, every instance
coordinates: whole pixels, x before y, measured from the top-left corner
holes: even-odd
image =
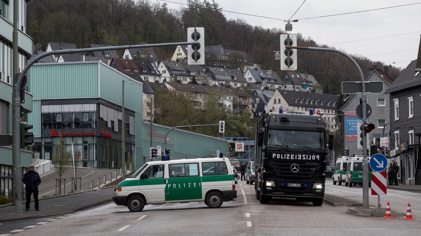
[[[269,147],[307,147],[312,149],[324,149],[325,147],[324,133],[319,131],[271,129],[267,140]]]

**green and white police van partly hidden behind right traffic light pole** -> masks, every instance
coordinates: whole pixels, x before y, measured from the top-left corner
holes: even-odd
[[[346,166],[346,178],[345,186],[352,187],[352,185],[359,184],[362,186],[362,158],[363,156],[353,156],[349,157],[348,164]],[[368,158],[368,163],[370,163],[370,157]],[[368,164],[368,183],[371,187],[371,169],[370,164]]]

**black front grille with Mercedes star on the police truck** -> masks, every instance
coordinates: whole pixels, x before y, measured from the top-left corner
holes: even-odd
[[[320,168],[321,163],[317,162],[294,162],[285,160],[270,160],[274,173],[278,177],[285,180],[300,178],[300,180],[311,180],[316,171]],[[291,170],[291,165],[297,164],[299,169],[297,172]]]

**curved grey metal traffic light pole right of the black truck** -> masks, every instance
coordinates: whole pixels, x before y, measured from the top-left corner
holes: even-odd
[[[303,49],[303,50],[314,50],[314,51],[325,51],[325,52],[336,52],[348,58],[354,64],[355,68],[360,75],[361,80],[361,101],[362,101],[362,121],[365,122],[367,120],[367,96],[365,93],[365,80],[364,75],[362,74],[360,66],[358,63],[352,58],[350,55],[346,54],[345,52],[341,52],[339,50],[333,48],[325,48],[325,47],[294,47],[294,46],[286,46],[287,49]],[[367,137],[365,135],[362,136],[362,208],[369,207],[369,199],[368,199],[368,158],[367,158],[367,141],[365,140]]]

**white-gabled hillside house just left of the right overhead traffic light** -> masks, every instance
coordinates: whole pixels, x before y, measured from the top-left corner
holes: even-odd
[[[244,73],[247,80],[247,86],[252,89],[262,89],[262,83],[265,82],[264,87],[272,89],[282,89],[283,83],[275,71],[264,71],[258,68],[248,68]]]

